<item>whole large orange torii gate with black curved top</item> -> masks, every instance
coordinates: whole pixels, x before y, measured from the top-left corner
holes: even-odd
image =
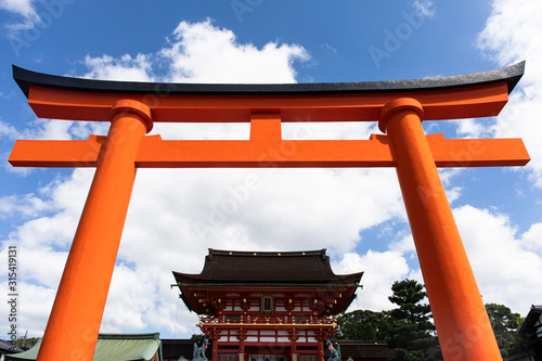
[[[495,116],[525,62],[371,82],[194,85],[75,79],[13,66],[38,117],[111,121],[87,141],[17,140],[15,167],[96,167],[38,360],[92,360],[137,168],[395,167],[442,354],[502,360],[437,167],[524,166],[520,139],[447,140],[422,120]],[[378,121],[370,140],[282,140],[281,121]],[[249,140],[164,141],[155,121],[250,123]],[[273,155],[274,156],[271,156]]]

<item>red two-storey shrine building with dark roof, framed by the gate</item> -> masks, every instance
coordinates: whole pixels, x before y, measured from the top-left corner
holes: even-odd
[[[363,272],[335,274],[325,249],[209,249],[202,273],[173,275],[212,361],[321,361]]]

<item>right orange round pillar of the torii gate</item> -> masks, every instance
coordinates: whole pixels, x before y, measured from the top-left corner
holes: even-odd
[[[502,360],[465,247],[410,98],[387,103],[378,127],[390,138],[427,297],[446,360]]]

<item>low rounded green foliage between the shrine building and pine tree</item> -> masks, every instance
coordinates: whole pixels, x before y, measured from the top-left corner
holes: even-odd
[[[343,313],[337,319],[337,339],[385,339],[389,333],[387,312],[356,310]]]

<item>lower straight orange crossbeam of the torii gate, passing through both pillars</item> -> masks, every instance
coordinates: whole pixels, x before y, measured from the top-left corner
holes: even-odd
[[[426,136],[437,167],[525,166],[521,139],[444,139]],[[15,167],[95,167],[105,137],[89,140],[17,140]],[[138,168],[396,167],[387,136],[370,140],[141,140]]]

